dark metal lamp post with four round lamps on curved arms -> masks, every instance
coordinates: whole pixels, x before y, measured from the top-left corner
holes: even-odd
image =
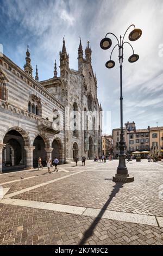
[[[106,37],[108,34],[114,35],[116,40],[117,40],[117,44],[114,46],[114,48],[111,51],[110,54],[110,60],[108,60],[108,62],[106,62],[105,66],[108,69],[114,68],[115,66],[115,62],[114,60],[111,60],[111,56],[112,56],[112,52],[114,51],[114,49],[116,48],[116,46],[118,46],[118,59],[119,59],[119,63],[120,63],[120,109],[121,109],[121,135],[120,135],[120,154],[119,154],[119,164],[117,167],[117,173],[115,176],[113,176],[112,181],[115,182],[132,182],[134,181],[134,176],[129,176],[128,174],[128,169],[126,167],[126,154],[124,154],[124,136],[123,136],[123,96],[122,96],[122,63],[123,63],[123,46],[124,44],[129,44],[131,46],[131,44],[128,41],[124,41],[124,37],[128,31],[128,29],[130,27],[133,27],[134,29],[133,31],[130,32],[129,34],[129,40],[130,41],[136,41],[137,39],[140,38],[142,31],[139,28],[135,28],[135,25],[130,25],[126,32],[122,36],[120,35],[120,40],[118,40],[117,36],[111,32],[107,33],[105,35],[105,38],[103,38],[100,42],[100,46],[103,50],[107,50],[111,47],[112,45],[112,41],[110,38]],[[130,63],[136,62],[139,59],[139,55],[134,53],[134,49],[133,46],[131,46],[132,50],[133,50],[133,54],[129,57],[128,61]]]

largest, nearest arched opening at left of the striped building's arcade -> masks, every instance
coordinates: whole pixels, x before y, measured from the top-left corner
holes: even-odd
[[[27,154],[24,146],[29,146],[26,133],[18,127],[13,127],[5,134],[3,143],[6,145],[2,151],[2,170],[7,172],[26,168]]]

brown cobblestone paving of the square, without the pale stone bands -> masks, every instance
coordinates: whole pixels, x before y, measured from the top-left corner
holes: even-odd
[[[45,174],[45,169],[39,173],[12,172],[0,175],[0,184],[15,180],[2,185],[10,187],[5,197],[11,199],[117,211],[120,215],[130,212],[162,217],[163,199],[159,198],[159,192],[163,185],[163,164],[147,160],[128,162],[129,174],[135,177],[129,184],[112,182],[117,165],[116,160],[87,161],[85,167],[80,162],[77,167],[74,163],[62,165],[58,173],[52,174]],[[12,192],[40,184],[10,196]],[[163,245],[163,227],[35,207],[0,202],[1,245]]]

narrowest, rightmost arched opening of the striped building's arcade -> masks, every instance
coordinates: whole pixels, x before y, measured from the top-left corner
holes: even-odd
[[[57,157],[59,160],[59,163],[62,163],[62,144],[59,138],[54,139],[52,143],[52,161],[54,160],[54,157]]]

